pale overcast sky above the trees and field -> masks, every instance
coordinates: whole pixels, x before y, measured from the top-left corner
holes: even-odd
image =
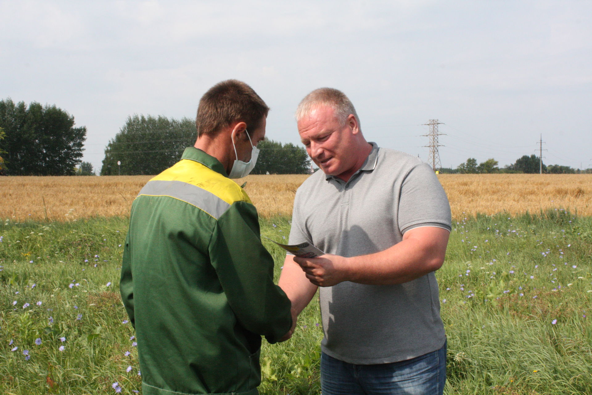
[[[128,115],[194,118],[229,78],[283,143],[300,143],[300,99],[330,86],[382,147],[427,161],[422,124],[442,122],[443,167],[513,163],[540,134],[546,164],[592,167],[589,0],[0,0],[0,15],[0,99],[74,115],[96,170]]]

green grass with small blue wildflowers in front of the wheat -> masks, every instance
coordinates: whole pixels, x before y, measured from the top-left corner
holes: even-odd
[[[286,217],[261,222],[264,236],[288,238]],[[115,393],[115,382],[124,394],[140,390],[118,295],[126,230],[120,218],[0,223],[4,394]],[[264,243],[278,276],[283,250]],[[446,300],[446,394],[592,393],[592,217],[552,210],[455,220],[436,276]],[[260,393],[320,393],[320,322],[314,300],[290,341],[263,342]]]

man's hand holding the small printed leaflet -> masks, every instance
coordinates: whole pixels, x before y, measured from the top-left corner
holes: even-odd
[[[318,287],[332,287],[348,280],[348,259],[339,255],[325,254],[317,258],[299,258],[294,262],[303,269],[308,281]]]

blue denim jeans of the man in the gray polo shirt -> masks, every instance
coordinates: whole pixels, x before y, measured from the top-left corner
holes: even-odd
[[[446,343],[439,350],[390,364],[357,365],[321,354],[323,395],[442,395]]]

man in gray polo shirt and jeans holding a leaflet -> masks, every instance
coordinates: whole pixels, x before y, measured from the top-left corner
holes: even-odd
[[[451,230],[442,186],[426,163],[366,142],[337,89],[311,92],[296,116],[321,171],[298,188],[289,243],[326,255],[288,255],[279,285],[294,325],[321,287],[323,395],[442,394],[446,335],[434,271]]]

